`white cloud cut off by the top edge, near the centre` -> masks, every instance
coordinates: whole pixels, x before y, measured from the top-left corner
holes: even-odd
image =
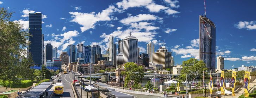
[[[151,3],[152,0],[123,0],[122,2],[117,2],[118,8],[123,10],[128,9],[129,7],[141,7],[146,6]]]

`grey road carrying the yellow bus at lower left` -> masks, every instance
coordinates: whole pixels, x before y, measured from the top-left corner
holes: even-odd
[[[63,74],[63,76],[60,78],[63,85],[64,85],[64,93],[62,96],[53,95],[52,98],[75,98],[74,93],[72,90],[72,80],[71,80],[71,73]]]

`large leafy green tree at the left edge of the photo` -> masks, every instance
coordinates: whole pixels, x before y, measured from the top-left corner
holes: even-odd
[[[13,12],[0,8],[0,80],[21,83],[20,79],[32,79],[33,62],[27,55],[30,34],[17,21],[11,21]],[[21,60],[21,62],[20,62]]]

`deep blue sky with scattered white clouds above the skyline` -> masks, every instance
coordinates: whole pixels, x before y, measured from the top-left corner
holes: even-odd
[[[206,0],[206,16],[216,25],[216,56],[225,57],[225,69],[255,65],[255,3]],[[0,0],[0,7],[15,12],[12,20],[24,29],[29,12],[42,12],[45,44],[52,43],[58,54],[80,39],[85,45],[99,44],[105,54],[110,35],[117,42],[132,32],[141,53],[149,41],[155,43],[155,50],[164,42],[175,64],[199,58],[204,0]]]

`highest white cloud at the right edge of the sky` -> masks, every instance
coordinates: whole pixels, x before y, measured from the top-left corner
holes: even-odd
[[[247,30],[256,29],[256,21],[239,21],[234,25],[238,29],[246,28]]]

